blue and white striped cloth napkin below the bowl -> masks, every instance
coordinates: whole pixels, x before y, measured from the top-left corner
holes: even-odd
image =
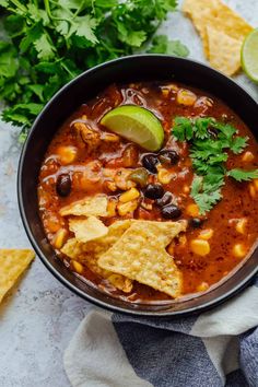
[[[171,320],[92,309],[64,352],[73,387],[258,387],[258,278],[210,312]]]

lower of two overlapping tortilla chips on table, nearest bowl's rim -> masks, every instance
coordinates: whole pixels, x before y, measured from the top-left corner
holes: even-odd
[[[210,26],[207,36],[211,66],[228,77],[235,74],[241,69],[242,42]]]

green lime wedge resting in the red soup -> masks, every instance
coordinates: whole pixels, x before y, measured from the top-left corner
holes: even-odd
[[[116,107],[102,118],[101,124],[151,152],[159,151],[164,140],[160,120],[153,113],[140,106]]]

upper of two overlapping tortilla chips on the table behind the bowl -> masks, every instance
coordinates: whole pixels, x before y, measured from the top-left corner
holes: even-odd
[[[183,11],[189,15],[200,34],[208,59],[210,51],[207,26],[224,32],[241,43],[254,30],[243,17],[220,0],[185,0]],[[220,49],[220,46],[218,46],[218,49]]]

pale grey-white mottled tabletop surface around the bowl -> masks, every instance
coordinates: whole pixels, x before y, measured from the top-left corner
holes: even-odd
[[[258,26],[257,0],[228,0]],[[191,23],[176,12],[161,27],[180,38],[190,57],[204,61]],[[258,101],[258,86],[242,74],[236,81]],[[28,247],[16,202],[16,168],[21,148],[17,129],[0,121],[0,246]],[[59,283],[38,258],[0,305],[0,386],[69,387],[62,354],[79,322],[92,306]],[[91,386],[89,386],[91,387]]]

